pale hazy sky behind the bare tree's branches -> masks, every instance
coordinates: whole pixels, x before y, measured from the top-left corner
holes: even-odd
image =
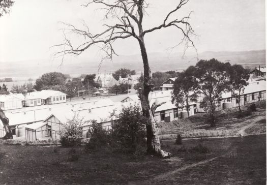
[[[82,25],[84,20],[92,32],[103,30],[103,12],[96,7],[80,6],[86,0],[14,0],[9,15],[0,18],[0,61],[31,59],[48,60],[49,47],[63,42],[59,21]],[[174,9],[177,0],[151,0],[144,18],[144,27],[159,25],[166,12]],[[193,38],[199,52],[244,51],[265,49],[264,0],[191,0],[177,17],[194,11],[190,23],[200,37]],[[147,52],[166,52],[180,41],[177,29],[166,28],[145,37]],[[117,41],[118,54],[139,53],[135,40]],[[173,52],[182,52],[176,48]],[[96,48],[86,51],[82,58],[98,57]]]

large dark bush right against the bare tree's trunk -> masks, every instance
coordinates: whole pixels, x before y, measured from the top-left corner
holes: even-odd
[[[139,106],[130,105],[123,107],[120,114],[111,114],[112,138],[117,144],[117,149],[122,152],[143,153],[146,146],[145,125],[148,119],[143,116]]]

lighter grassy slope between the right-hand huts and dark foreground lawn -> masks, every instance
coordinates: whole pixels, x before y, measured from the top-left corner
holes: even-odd
[[[265,101],[255,102],[257,110],[251,115],[238,118],[238,107],[218,111],[216,113],[216,128],[206,124],[207,115],[199,113],[189,118],[172,122],[159,122],[162,139],[175,139],[177,133],[183,138],[200,137],[232,137],[250,134],[262,134],[266,132],[266,105]],[[247,110],[251,104],[242,106]]]

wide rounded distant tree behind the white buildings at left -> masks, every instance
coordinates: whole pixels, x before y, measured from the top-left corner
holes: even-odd
[[[65,85],[66,77],[62,73],[51,72],[45,73],[35,82],[34,88],[36,90],[42,90],[51,88],[54,85]]]

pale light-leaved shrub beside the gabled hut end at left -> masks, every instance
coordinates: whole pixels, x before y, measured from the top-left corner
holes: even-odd
[[[72,119],[68,119],[60,134],[60,142],[62,146],[78,146],[81,144],[82,138],[82,124],[83,120],[79,118],[78,114],[74,114]]]

